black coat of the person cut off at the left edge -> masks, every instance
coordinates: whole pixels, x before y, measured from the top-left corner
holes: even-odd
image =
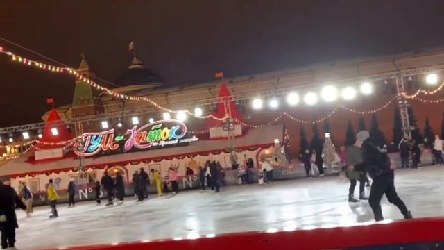
[[[26,209],[26,206],[19,198],[14,188],[0,183],[0,215],[6,216],[5,224],[19,228],[17,216],[15,215],[15,206]]]

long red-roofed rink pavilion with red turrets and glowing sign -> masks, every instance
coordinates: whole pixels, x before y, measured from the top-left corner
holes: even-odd
[[[227,94],[228,89],[223,84],[219,96]],[[30,142],[27,151],[1,165],[0,176],[9,176],[17,191],[20,183],[25,182],[35,194],[35,205],[46,203],[45,190],[51,178],[59,191],[60,201],[67,201],[69,181],[77,183],[75,199],[94,199],[92,187],[105,171],[111,176],[117,172],[123,176],[127,196],[134,194],[133,173],[142,167],[150,178],[153,177],[151,169],[159,171],[164,178],[169,167],[178,167],[181,190],[199,188],[199,167],[207,160],[221,163],[227,185],[235,185],[238,181],[238,171],[230,170],[232,161],[243,165],[248,158],[255,164],[255,168],[248,169],[248,178],[253,182],[257,182],[259,160],[265,158],[273,162],[275,178],[303,176],[286,164],[289,140],[284,125],[245,128],[233,101],[230,106],[235,119],[230,122],[230,136],[221,126],[223,119],[207,122],[206,131],[191,131],[184,122],[163,119],[127,126],[126,132],[120,130],[123,133],[110,128],[74,137],[53,109],[42,138]],[[226,117],[222,107],[217,110],[214,117]],[[193,170],[193,175],[186,175],[187,167]],[[148,192],[154,193],[155,187],[149,185]]]

